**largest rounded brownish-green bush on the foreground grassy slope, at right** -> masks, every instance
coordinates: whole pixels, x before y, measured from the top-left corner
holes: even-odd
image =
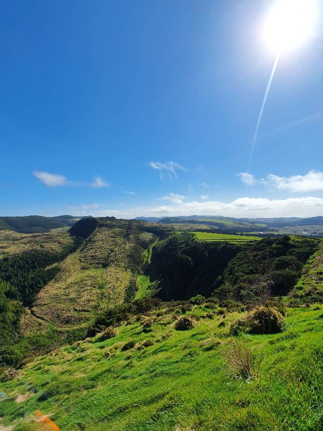
[[[285,319],[271,307],[259,307],[248,316],[249,332],[254,334],[275,334],[285,327]]]

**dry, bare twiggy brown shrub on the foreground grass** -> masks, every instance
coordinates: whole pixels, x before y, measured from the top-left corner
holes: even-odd
[[[250,380],[258,377],[264,352],[256,355],[253,349],[235,340],[227,347],[225,358],[227,365],[234,370],[237,377]]]

